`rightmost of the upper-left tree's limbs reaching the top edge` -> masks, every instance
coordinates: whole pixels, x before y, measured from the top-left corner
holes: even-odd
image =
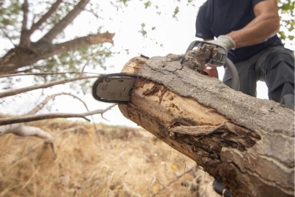
[[[62,20],[59,21],[48,33],[46,33],[39,41],[52,42],[52,40],[66,28],[76,16],[78,16],[89,0],[80,0],[79,3],[71,10]]]

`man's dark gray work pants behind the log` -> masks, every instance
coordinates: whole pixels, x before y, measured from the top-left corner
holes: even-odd
[[[235,64],[239,91],[256,97],[257,81],[265,81],[268,98],[294,109],[294,53],[283,46],[271,46],[250,59]],[[225,67],[223,81],[231,86],[231,73]]]

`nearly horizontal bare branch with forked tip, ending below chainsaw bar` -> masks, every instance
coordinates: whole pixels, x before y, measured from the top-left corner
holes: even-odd
[[[98,109],[94,111],[89,111],[85,113],[49,113],[49,114],[40,114],[40,115],[25,115],[25,116],[18,116],[18,117],[10,117],[10,118],[2,118],[0,119],[0,126],[1,125],[10,125],[15,123],[25,123],[31,122],[36,120],[45,120],[45,119],[52,119],[52,118],[86,118],[87,116],[94,115],[94,114],[102,114],[110,110],[116,104],[113,104],[106,109]]]

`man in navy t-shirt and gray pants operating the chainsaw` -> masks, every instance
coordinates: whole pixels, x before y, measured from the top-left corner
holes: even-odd
[[[197,16],[196,36],[228,50],[241,92],[255,97],[262,80],[269,99],[294,109],[294,54],[276,35],[279,22],[277,0],[207,0]],[[223,81],[231,85],[227,68]]]

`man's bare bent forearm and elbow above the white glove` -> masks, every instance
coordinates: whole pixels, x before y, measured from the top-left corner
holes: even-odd
[[[236,48],[259,44],[275,35],[280,28],[277,0],[264,0],[254,7],[255,19],[244,28],[228,33]]]

